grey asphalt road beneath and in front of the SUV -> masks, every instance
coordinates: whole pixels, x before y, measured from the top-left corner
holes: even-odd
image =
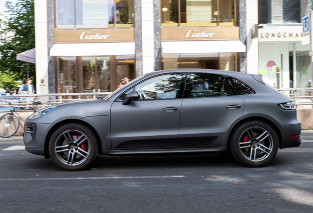
[[[98,156],[93,168],[66,172],[0,142],[1,213],[312,213],[313,137],[279,150],[263,168],[222,154]]]

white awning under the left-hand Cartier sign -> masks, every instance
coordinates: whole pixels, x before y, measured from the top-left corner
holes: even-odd
[[[50,49],[51,56],[134,55],[135,42],[58,43]]]

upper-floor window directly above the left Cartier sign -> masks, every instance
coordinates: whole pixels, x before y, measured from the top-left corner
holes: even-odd
[[[133,0],[56,0],[56,28],[133,27]]]

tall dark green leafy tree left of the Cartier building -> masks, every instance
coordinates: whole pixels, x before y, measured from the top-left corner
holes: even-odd
[[[13,5],[6,1],[5,7],[11,17],[1,21],[5,27],[0,30],[0,72],[8,74],[15,81],[24,81],[27,76],[26,62],[17,60],[16,55],[35,47],[34,2],[19,0]],[[4,36],[12,31],[12,36]],[[35,80],[34,64],[30,66],[30,77]]]

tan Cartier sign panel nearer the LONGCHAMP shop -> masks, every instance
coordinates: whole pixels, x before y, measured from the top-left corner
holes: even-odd
[[[239,27],[163,27],[161,40],[239,40]]]

